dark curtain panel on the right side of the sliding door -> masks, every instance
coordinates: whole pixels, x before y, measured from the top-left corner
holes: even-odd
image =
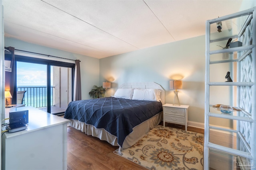
[[[82,100],[80,60],[76,60],[74,78],[74,101]]]

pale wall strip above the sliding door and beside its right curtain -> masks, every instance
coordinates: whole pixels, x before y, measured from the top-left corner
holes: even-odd
[[[99,84],[99,59],[92,57],[69,53],[58,49],[52,49],[41,45],[27,43],[17,39],[6,38],[4,39],[5,47],[14,47],[15,49],[30,51],[34,53],[41,53],[62,57],[65,59],[80,60],[81,69],[81,86],[82,86],[82,99],[90,99],[89,92],[94,85]]]

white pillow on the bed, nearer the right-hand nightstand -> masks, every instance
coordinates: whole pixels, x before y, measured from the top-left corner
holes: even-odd
[[[161,91],[158,89],[134,89],[132,100],[148,100],[160,102]]]

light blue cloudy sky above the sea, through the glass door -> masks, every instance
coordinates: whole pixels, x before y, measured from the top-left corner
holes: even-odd
[[[52,84],[52,74],[51,74],[51,84]],[[47,65],[17,62],[17,86],[46,86],[46,85],[47,85]]]

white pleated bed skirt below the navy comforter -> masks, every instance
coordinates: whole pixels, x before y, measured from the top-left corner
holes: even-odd
[[[162,112],[158,113],[154,117],[151,117],[147,121],[144,121],[140,125],[133,128],[132,133],[130,133],[124,140],[122,149],[126,149],[134,145],[138,140],[148,134],[150,129],[156,127],[162,120]],[[105,129],[97,129],[93,125],[87,125],[84,122],[78,120],[70,119],[70,126],[85,132],[87,135],[92,135],[97,137],[102,141],[107,141],[113,146],[119,146],[117,143],[117,137],[107,132]],[[120,146],[119,146],[120,147]]]

